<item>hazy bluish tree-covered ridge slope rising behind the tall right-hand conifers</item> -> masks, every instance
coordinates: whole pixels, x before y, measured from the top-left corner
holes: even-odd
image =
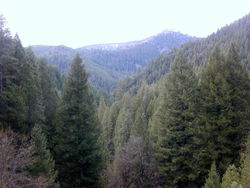
[[[207,38],[189,41],[179,49],[183,50],[189,63],[199,75],[214,47],[218,46],[222,52],[227,53],[231,43],[235,44],[242,63],[250,70],[250,14],[221,28]],[[158,56],[141,72],[122,81],[119,92],[130,91],[131,94],[136,94],[143,82],[152,84],[162,79],[169,71],[170,64],[179,49],[172,49],[167,55]]]

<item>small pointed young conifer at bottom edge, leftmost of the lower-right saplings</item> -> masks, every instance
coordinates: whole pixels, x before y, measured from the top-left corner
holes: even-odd
[[[208,178],[203,188],[220,188],[220,176],[217,174],[215,162],[212,163]]]

